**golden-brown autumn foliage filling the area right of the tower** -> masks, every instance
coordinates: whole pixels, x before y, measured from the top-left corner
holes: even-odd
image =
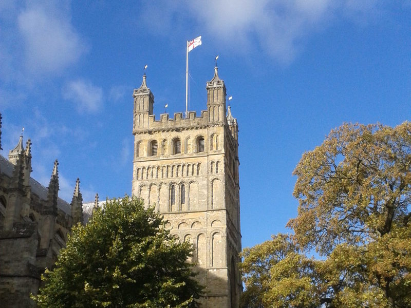
[[[243,251],[244,306],[410,307],[411,123],[344,124],[293,174],[295,234]]]

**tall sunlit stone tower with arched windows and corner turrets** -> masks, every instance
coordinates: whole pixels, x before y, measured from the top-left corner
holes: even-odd
[[[242,284],[238,181],[238,126],[226,114],[226,86],[207,82],[207,110],[153,114],[146,84],[134,90],[134,196],[155,206],[181,240],[193,243],[197,279],[205,287],[201,307],[237,308]]]

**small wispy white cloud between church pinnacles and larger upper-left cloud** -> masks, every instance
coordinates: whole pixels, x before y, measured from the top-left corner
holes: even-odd
[[[63,98],[76,103],[80,113],[92,113],[99,111],[103,105],[103,90],[90,81],[79,79],[64,87]]]

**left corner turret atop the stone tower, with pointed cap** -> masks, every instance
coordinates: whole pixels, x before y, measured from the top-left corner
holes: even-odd
[[[134,98],[134,121],[133,132],[139,129],[148,129],[148,115],[153,114],[154,95],[150,88],[147,88],[146,75],[143,75],[143,82],[140,88],[133,91]]]

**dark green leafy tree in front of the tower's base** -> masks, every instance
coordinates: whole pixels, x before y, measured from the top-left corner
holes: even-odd
[[[73,227],[33,299],[39,307],[194,307],[201,288],[191,255],[153,208],[135,198],[107,201]]]

